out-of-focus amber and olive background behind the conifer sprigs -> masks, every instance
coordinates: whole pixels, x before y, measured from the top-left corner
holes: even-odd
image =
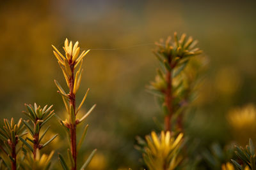
[[[186,120],[188,134],[202,147],[244,145],[249,137],[256,139],[256,126],[237,137],[241,129],[232,127],[228,113],[256,102],[255,8],[253,1],[1,1],[0,117],[17,120],[24,103],[35,102],[54,104],[64,117],[53,80],[63,86],[65,80],[51,45],[61,50],[65,38],[79,41],[92,51],[77,100],[90,87],[84,111],[97,103],[86,120],[90,126],[80,164],[97,148],[90,169],[139,169],[135,137],[157,129],[153,117],[162,120],[154,96],[145,90],[159,67],[154,42],[186,32],[198,39],[208,63],[196,109]],[[52,124],[52,132],[59,132],[56,119]],[[62,138],[65,134],[52,145],[65,148]]]

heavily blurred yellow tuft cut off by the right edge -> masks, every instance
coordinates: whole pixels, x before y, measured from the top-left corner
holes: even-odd
[[[229,111],[227,120],[234,138],[241,145],[245,145],[248,138],[256,139],[256,108],[253,104]]]

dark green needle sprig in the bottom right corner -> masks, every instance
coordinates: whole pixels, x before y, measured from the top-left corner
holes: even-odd
[[[256,169],[255,148],[252,139],[249,139],[249,145],[246,145],[245,148],[241,146],[235,146],[235,153],[237,157],[239,157],[239,159],[243,162],[241,165],[238,163],[238,161],[232,159],[231,161],[236,169],[244,169],[246,167],[249,167],[252,170]]]

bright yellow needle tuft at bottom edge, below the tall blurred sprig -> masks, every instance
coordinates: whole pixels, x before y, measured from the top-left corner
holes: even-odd
[[[171,136],[170,131],[162,131],[159,137],[154,131],[151,136],[146,136],[147,146],[145,147],[143,159],[148,168],[150,170],[175,169],[182,160],[179,155],[182,138],[182,133],[177,138],[174,138]]]

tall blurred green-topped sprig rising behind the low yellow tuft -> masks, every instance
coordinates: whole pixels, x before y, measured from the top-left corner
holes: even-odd
[[[186,86],[184,76],[179,76],[188,65],[189,59],[202,53],[202,50],[195,48],[196,44],[197,41],[191,37],[187,38],[186,34],[182,34],[178,38],[176,32],[173,41],[171,37],[168,37],[165,42],[161,39],[156,43],[157,49],[154,50],[154,54],[162,69],[157,69],[156,79],[150,83],[148,89],[159,98],[164,112],[164,129],[166,131],[172,130],[171,122],[174,114],[179,115],[180,119],[182,118],[182,106],[188,102],[186,99],[190,95],[191,87]],[[174,80],[177,77],[178,80]],[[179,83],[175,84],[174,81],[179,81]],[[180,129],[182,129],[182,121],[176,121],[176,123],[179,123]]]

